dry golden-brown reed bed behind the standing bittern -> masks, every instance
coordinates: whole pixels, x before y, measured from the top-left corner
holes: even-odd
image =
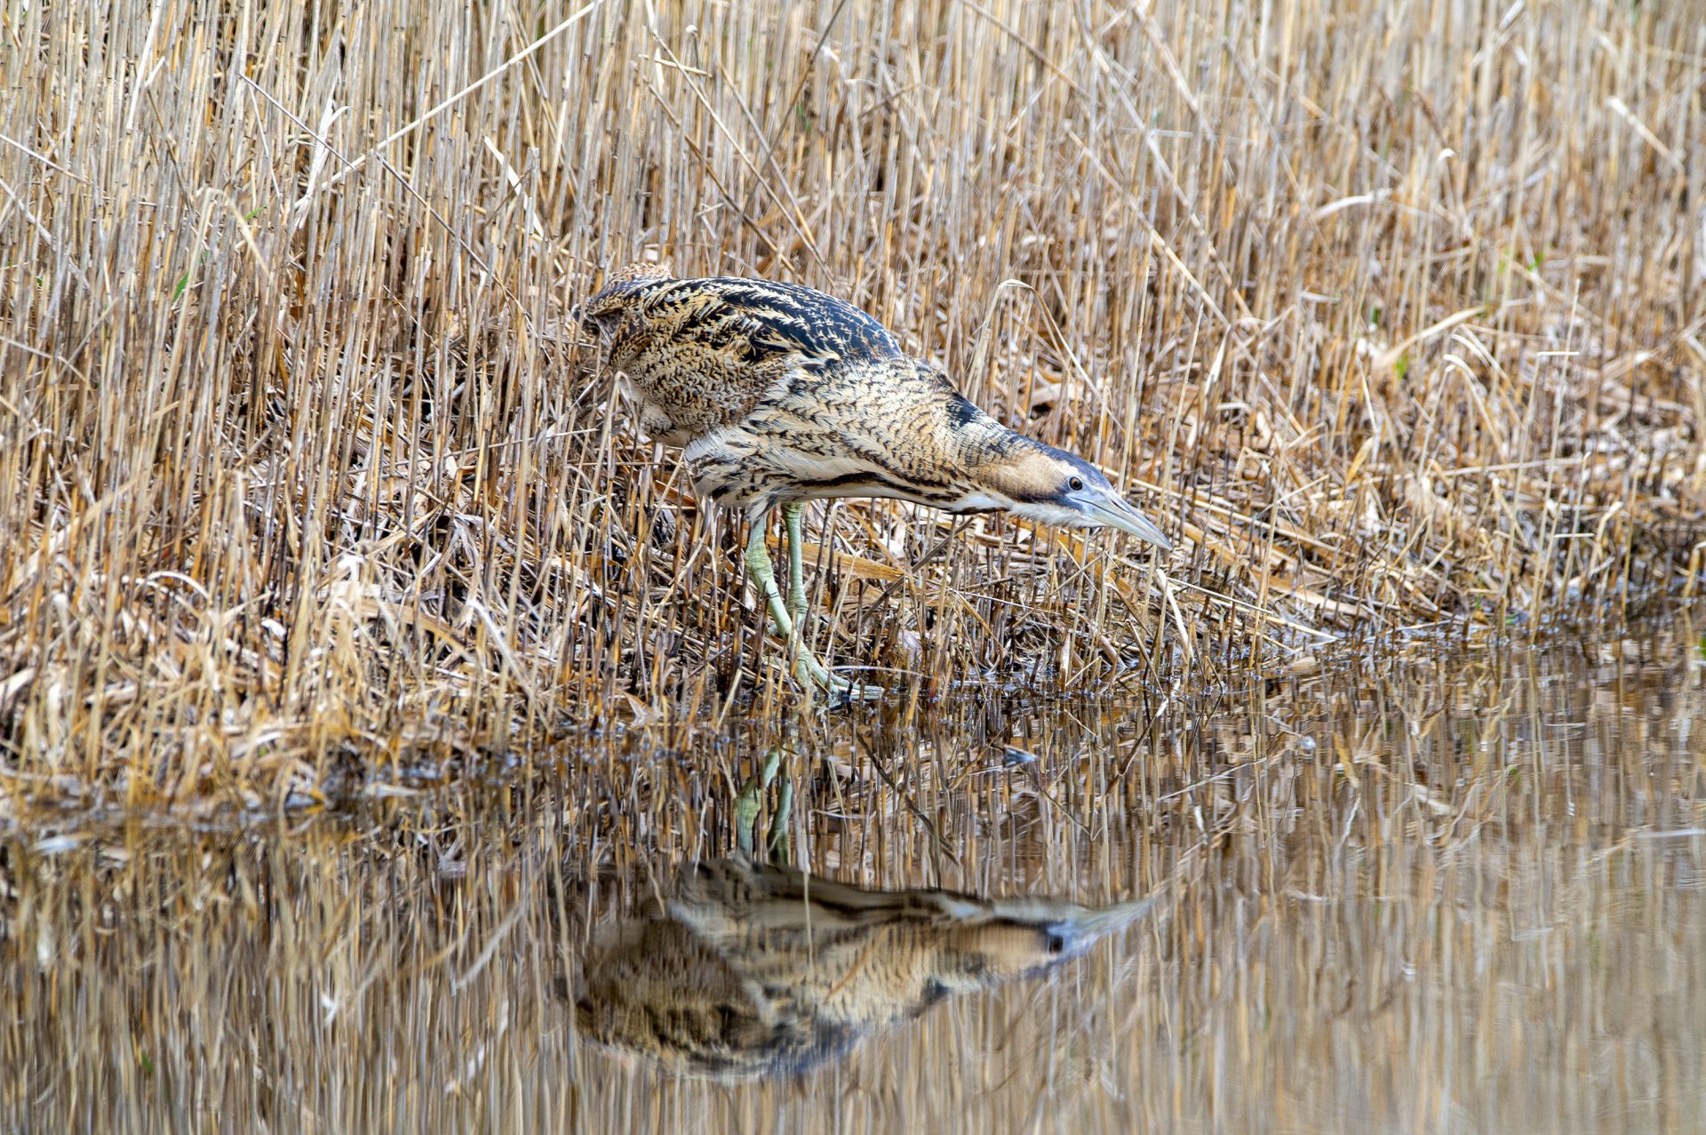
[[[640,258],[867,307],[1179,538],[814,514],[819,643],[902,705],[1616,626],[1701,573],[1687,5],[181,0],[0,41],[9,814],[792,705],[735,524],[575,329]]]

